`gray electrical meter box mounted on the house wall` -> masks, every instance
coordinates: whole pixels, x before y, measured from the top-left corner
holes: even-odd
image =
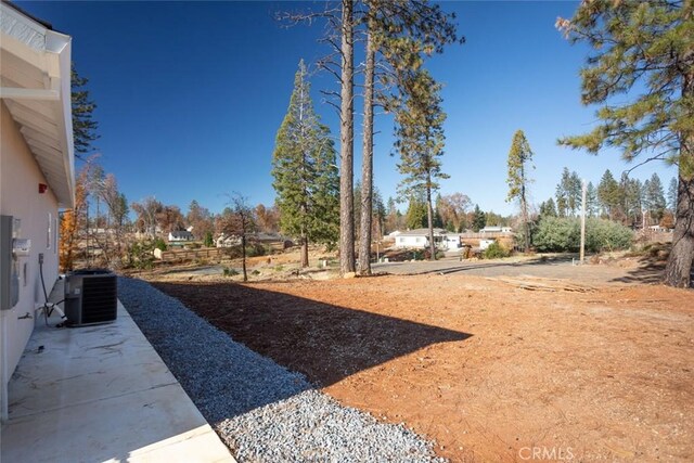
[[[20,301],[18,260],[31,250],[31,241],[21,236],[22,221],[0,216],[0,310],[10,310]]]

